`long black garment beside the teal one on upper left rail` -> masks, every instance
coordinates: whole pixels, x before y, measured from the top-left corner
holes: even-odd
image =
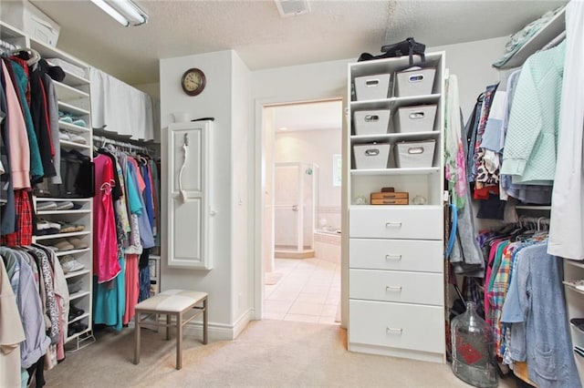
[[[43,84],[45,71],[39,64],[36,69],[29,74],[30,82],[30,115],[33,118],[33,126],[36,131],[36,140],[40,151],[40,159],[45,169],[45,178],[57,176],[57,170],[53,166],[53,155],[51,152],[52,139],[50,137],[50,124],[48,123],[47,93]],[[55,128],[58,130],[58,128]],[[58,145],[55,145],[58,147]],[[35,181],[34,183],[37,183]]]

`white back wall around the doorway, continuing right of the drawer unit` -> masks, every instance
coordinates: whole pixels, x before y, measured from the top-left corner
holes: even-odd
[[[486,39],[478,42],[470,42],[457,45],[429,47],[426,51],[445,51],[446,67],[452,74],[459,78],[459,94],[461,107],[463,109],[464,120],[474,107],[476,97],[490,85],[497,81],[496,70],[491,66],[496,59],[504,52],[508,37],[503,36],[494,39]],[[253,73],[253,98],[255,99],[255,164],[250,168],[250,177],[255,176],[255,187],[251,196],[256,198],[256,206],[250,215],[260,218],[261,215],[261,197],[263,189],[261,178],[262,158],[258,155],[259,148],[262,146],[262,109],[259,108],[269,103],[282,103],[293,101],[305,101],[309,99],[319,99],[327,97],[343,97],[346,106],[346,88],[347,88],[347,65],[356,61],[355,58],[346,60],[322,62],[317,64],[303,66],[287,66],[266,70],[258,70]],[[346,122],[343,122],[343,141],[346,141]],[[343,144],[343,149],[347,149]],[[345,174],[348,172],[345,171]],[[256,194],[257,193],[257,194]],[[347,206],[347,199],[343,190],[342,207]],[[342,230],[347,230],[346,219],[341,225]],[[255,228],[255,271],[261,271],[261,228]],[[345,236],[343,235],[343,238]],[[342,314],[341,321],[343,325],[347,322],[347,245],[343,240],[341,259],[341,301]],[[261,305],[261,284],[255,284],[255,306]]]

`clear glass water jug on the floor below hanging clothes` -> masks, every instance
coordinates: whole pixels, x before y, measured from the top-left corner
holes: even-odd
[[[451,322],[453,373],[475,387],[497,386],[493,332],[476,313],[474,301],[466,302],[466,311]]]

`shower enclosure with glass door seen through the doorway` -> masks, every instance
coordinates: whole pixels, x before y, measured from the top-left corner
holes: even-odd
[[[278,162],[275,166],[275,256],[314,257],[318,166],[308,162]]]

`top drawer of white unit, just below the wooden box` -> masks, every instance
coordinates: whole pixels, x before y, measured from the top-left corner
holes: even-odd
[[[363,207],[349,210],[349,237],[363,239],[441,240],[443,208]]]

